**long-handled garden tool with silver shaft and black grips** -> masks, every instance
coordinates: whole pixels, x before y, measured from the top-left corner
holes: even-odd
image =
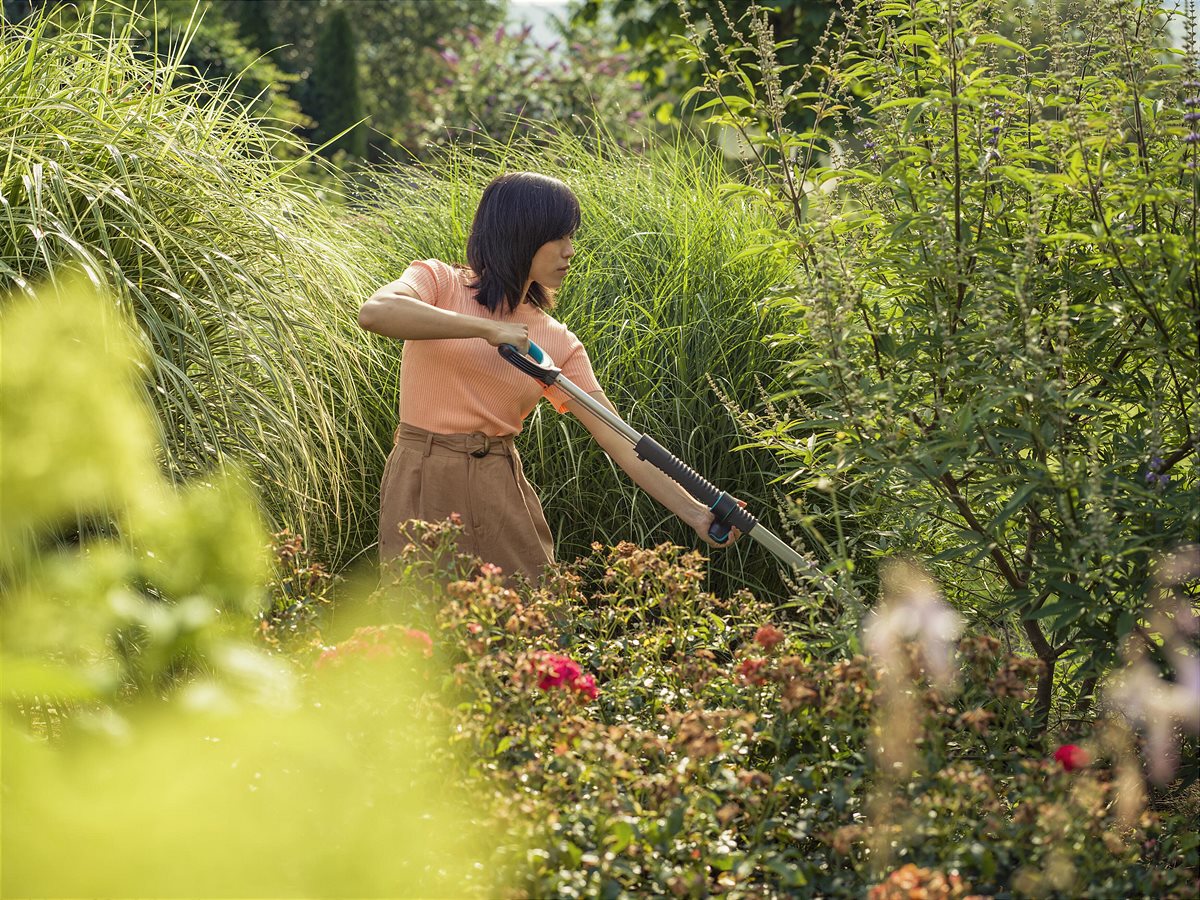
[[[737,528],[743,534],[754,538],[754,540],[758,541],[788,565],[797,569],[811,565],[772,532],[763,528],[752,515],[738,504],[737,499],[709,484],[702,475],[683,462],[683,460],[674,456],[658,440],[649,434],[642,434],[636,431],[624,419],[616,415],[611,409],[598,402],[595,397],[574,384],[533,341],[529,342],[528,356],[510,343],[500,344],[498,349],[504,359],[526,374],[536,378],[547,386],[557,385],[560,388],[587,408],[588,412],[632,444],[634,450],[637,452],[637,458],[644,460],[655,468],[661,469],[683,490],[708,506],[713,514],[713,524],[708,529],[708,536],[714,541],[724,544],[730,536],[730,529]]]

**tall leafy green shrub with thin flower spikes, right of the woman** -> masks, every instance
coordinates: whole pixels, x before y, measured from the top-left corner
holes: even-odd
[[[1140,0],[856,11],[820,91],[790,90],[758,7],[707,85],[754,150],[731,196],[779,212],[760,251],[797,269],[808,415],[766,415],[769,440],[796,484],[854,487],[860,566],[929,558],[1019,631],[1044,725],[1056,686],[1087,708],[1151,560],[1200,526],[1195,22],[1184,53]],[[725,96],[742,78],[754,102]],[[781,127],[794,107],[814,132]]]

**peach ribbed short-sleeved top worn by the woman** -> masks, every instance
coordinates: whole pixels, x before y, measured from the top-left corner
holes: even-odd
[[[422,301],[440,310],[529,325],[529,338],[550,354],[564,376],[584,391],[600,390],[583,344],[564,324],[532,304],[521,304],[512,313],[490,313],[467,287],[470,272],[439,259],[414,262],[400,280]],[[400,366],[402,422],[439,434],[516,434],[542,396],[559,413],[566,412],[570,397],[560,388],[546,388],[524,374],[487,341],[404,341]]]

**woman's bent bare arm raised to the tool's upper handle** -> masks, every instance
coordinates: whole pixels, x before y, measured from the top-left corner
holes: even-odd
[[[529,349],[529,326],[439,310],[418,298],[402,281],[379,288],[359,310],[359,325],[397,341],[430,341],[449,337],[482,337],[490,344],[515,344]]]

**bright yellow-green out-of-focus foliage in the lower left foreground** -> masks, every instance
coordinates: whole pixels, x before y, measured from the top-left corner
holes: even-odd
[[[494,889],[437,661],[314,671],[253,640],[253,491],[235,468],[163,478],[115,308],[61,278],[0,319],[2,893]]]

